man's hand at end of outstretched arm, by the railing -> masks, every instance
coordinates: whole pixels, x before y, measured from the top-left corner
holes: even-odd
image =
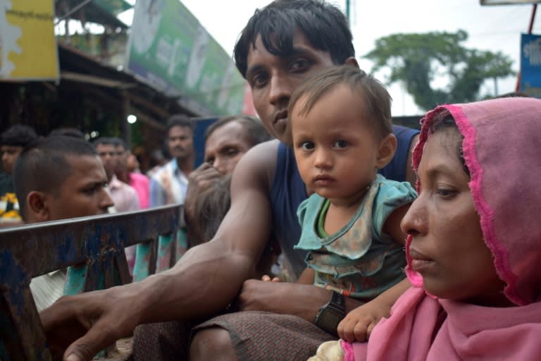
[[[137,298],[101,290],[65,296],[43,310],[44,331],[56,360],[89,361],[100,350],[131,334]]]

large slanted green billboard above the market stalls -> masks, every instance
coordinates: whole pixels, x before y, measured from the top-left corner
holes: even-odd
[[[138,0],[125,68],[201,115],[242,111],[244,78],[178,0]]]

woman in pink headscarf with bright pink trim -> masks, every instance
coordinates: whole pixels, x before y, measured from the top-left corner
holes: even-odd
[[[343,360],[541,360],[541,100],[438,106],[422,123],[402,220],[414,286],[367,343],[341,341]]]

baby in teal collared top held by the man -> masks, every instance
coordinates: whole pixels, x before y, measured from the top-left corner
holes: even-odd
[[[406,233],[400,221],[416,192],[407,182],[377,173],[397,147],[390,104],[385,87],[353,66],[307,80],[290,99],[291,146],[301,178],[313,192],[297,211],[302,233],[296,248],[309,251],[311,283],[332,291],[334,312],[323,307],[315,321],[330,334],[337,333],[346,310],[405,278]],[[367,304],[371,308],[363,310],[370,317],[352,324],[352,331],[369,332],[405,285]],[[361,302],[345,302],[344,296]],[[336,308],[342,308],[339,314]]]

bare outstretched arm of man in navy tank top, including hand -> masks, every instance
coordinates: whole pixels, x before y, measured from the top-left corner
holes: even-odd
[[[137,324],[194,319],[222,310],[255,269],[270,234],[268,185],[278,142],[258,145],[232,178],[231,208],[216,237],[175,267],[126,286],[61,298],[40,316],[53,350],[90,360]],[[247,232],[246,230],[250,231]]]

